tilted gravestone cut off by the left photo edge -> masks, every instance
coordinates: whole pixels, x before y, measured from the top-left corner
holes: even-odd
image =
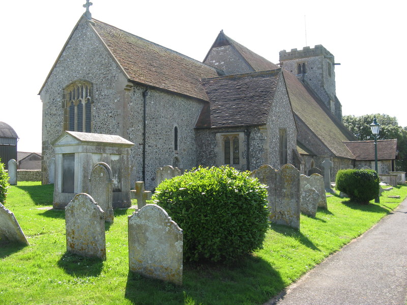
[[[14,214],[0,203],[0,243],[18,242],[28,245]]]

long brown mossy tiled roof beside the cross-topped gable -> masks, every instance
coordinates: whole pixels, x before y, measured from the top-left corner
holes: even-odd
[[[200,79],[218,76],[216,69],[117,27],[92,21],[131,81],[208,100]]]

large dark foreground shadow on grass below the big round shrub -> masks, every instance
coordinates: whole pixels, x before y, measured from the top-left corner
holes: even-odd
[[[184,263],[183,286],[129,271],[125,297],[133,304],[263,304],[284,288],[267,261],[247,256],[235,266]]]

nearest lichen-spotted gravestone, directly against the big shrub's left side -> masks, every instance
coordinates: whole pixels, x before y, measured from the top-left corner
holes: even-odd
[[[128,230],[130,270],[182,285],[183,230],[167,212],[148,204],[129,216]]]

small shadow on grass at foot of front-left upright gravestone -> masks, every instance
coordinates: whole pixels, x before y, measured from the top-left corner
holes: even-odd
[[[65,252],[57,262],[68,275],[74,277],[97,277],[102,272],[103,260],[97,257],[84,257]]]

